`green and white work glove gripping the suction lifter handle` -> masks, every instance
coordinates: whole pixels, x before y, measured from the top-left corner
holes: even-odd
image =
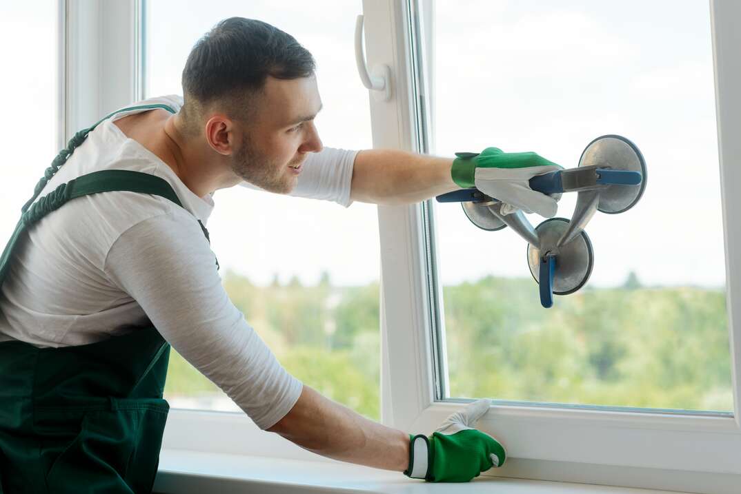
[[[556,198],[530,188],[529,180],[536,175],[563,169],[534,152],[502,152],[488,147],[478,155],[473,152],[456,152],[451,168],[453,182],[463,189],[476,187],[479,191],[502,201],[503,214],[518,209],[554,217],[558,205]],[[556,194],[560,198],[559,194]]]

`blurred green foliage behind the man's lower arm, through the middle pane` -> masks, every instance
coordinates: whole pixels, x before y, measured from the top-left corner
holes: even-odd
[[[258,287],[227,271],[224,285],[281,364],[320,393],[380,418],[379,286],[332,287],[328,274],[313,287],[295,277]],[[200,396],[218,389],[175,351],[165,394]]]

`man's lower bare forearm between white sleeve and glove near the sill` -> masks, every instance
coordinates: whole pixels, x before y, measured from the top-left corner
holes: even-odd
[[[304,385],[296,405],[270,432],[328,458],[403,472],[409,435],[365,419]]]

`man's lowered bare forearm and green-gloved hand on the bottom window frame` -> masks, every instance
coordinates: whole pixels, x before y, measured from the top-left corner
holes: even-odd
[[[268,430],[336,460],[403,471],[427,481],[467,482],[505,463],[502,444],[473,428],[490,405],[489,399],[477,400],[449,416],[432,436],[410,436],[304,386],[296,405]]]

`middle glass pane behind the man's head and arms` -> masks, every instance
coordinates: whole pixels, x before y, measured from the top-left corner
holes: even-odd
[[[148,1],[147,95],[182,94],[193,44],[218,21],[257,18],[313,53],[325,146],[371,147],[368,92],[353,56],[361,2]],[[177,21],[173,22],[173,12]],[[228,294],[279,361],[306,385],[379,418],[379,240],[376,207],[234,187],[214,197],[213,251]],[[238,410],[173,354],[165,396],[173,407]]]

